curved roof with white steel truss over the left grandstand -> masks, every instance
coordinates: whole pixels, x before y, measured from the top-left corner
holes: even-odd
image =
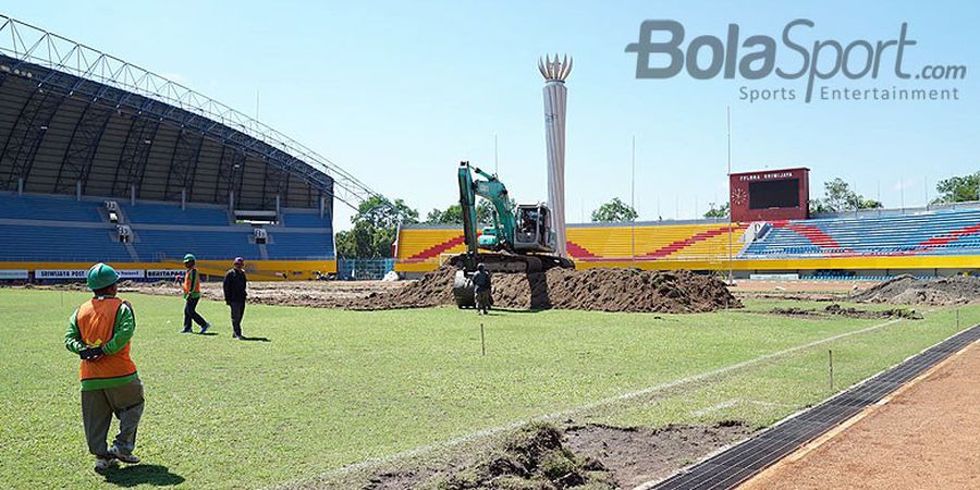
[[[373,193],[316,151],[139,66],[0,15],[0,191],[237,209],[356,208]],[[328,205],[330,199],[326,199]]]

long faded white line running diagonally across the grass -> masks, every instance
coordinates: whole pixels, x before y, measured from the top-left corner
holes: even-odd
[[[417,455],[419,455],[419,454],[426,454],[426,453],[429,453],[429,452],[432,452],[432,451],[436,451],[436,450],[440,450],[440,449],[449,449],[449,448],[453,448],[453,446],[456,446],[456,445],[465,444],[465,443],[467,443],[467,442],[473,442],[473,441],[476,441],[476,440],[479,440],[479,439],[483,439],[483,438],[487,438],[487,437],[490,437],[490,436],[494,436],[494,434],[498,434],[498,433],[501,433],[501,432],[504,432],[504,431],[517,429],[517,428],[519,428],[519,427],[522,427],[522,426],[524,426],[525,424],[528,424],[528,422],[534,422],[534,421],[546,421],[546,420],[554,420],[554,419],[560,419],[560,418],[567,418],[567,417],[569,417],[569,416],[572,416],[572,415],[575,415],[575,414],[578,414],[578,413],[581,413],[581,412],[589,412],[589,411],[592,411],[592,409],[602,407],[602,406],[604,406],[604,405],[612,405],[612,404],[617,403],[617,402],[623,402],[623,401],[636,399],[636,397],[639,397],[639,396],[644,396],[644,395],[657,393],[657,392],[660,392],[660,391],[670,390],[670,389],[672,389],[672,388],[676,388],[676,387],[679,387],[679,385],[684,385],[684,384],[688,384],[688,383],[694,383],[694,382],[697,382],[697,381],[702,381],[702,380],[708,379],[708,378],[712,378],[712,377],[715,377],[715,376],[719,376],[719,375],[724,375],[724,373],[726,373],[726,372],[731,372],[731,371],[734,371],[734,370],[737,370],[737,369],[742,369],[742,368],[745,368],[745,367],[748,367],[748,366],[752,366],[752,365],[756,365],[756,364],[761,364],[761,363],[764,363],[764,362],[767,362],[767,360],[771,360],[771,359],[774,359],[774,358],[777,358],[777,357],[783,357],[783,356],[786,356],[786,355],[789,355],[789,354],[797,353],[797,352],[799,352],[799,351],[805,351],[805,350],[807,350],[807,348],[816,347],[816,346],[818,346],[818,345],[826,344],[826,343],[834,342],[834,341],[837,341],[837,340],[841,340],[841,339],[846,339],[846,338],[852,336],[852,335],[859,335],[859,334],[861,334],[861,333],[872,332],[872,331],[874,331],[874,330],[879,330],[879,329],[882,329],[882,328],[885,328],[885,327],[895,324],[895,323],[897,323],[897,322],[899,322],[899,321],[902,321],[902,319],[901,319],[901,318],[896,318],[896,319],[894,319],[894,320],[889,320],[889,321],[885,321],[885,322],[883,322],[883,323],[878,323],[878,324],[874,324],[874,326],[871,326],[871,327],[867,327],[867,328],[863,328],[863,329],[860,329],[860,330],[854,330],[854,331],[850,331],[850,332],[844,332],[844,333],[838,333],[838,334],[836,334],[836,335],[831,335],[831,336],[828,336],[828,338],[825,338],[825,339],[814,340],[814,341],[807,342],[807,343],[801,344],[801,345],[797,345],[797,346],[795,346],[795,347],[785,348],[785,350],[783,350],[783,351],[776,351],[776,352],[771,353],[771,354],[761,355],[761,356],[756,357],[756,358],[754,358],[754,359],[743,360],[742,363],[736,363],[736,364],[733,364],[733,365],[730,365],[730,366],[721,367],[721,368],[718,368],[718,369],[712,369],[712,370],[710,370],[710,371],[702,372],[702,373],[700,373],[700,375],[688,376],[688,377],[686,377],[686,378],[681,378],[681,379],[677,379],[677,380],[674,380],[674,381],[670,381],[670,382],[666,382],[666,383],[658,384],[658,385],[656,385],[656,387],[650,387],[650,388],[646,388],[646,389],[638,390],[638,391],[633,391],[633,392],[628,392],[628,393],[618,394],[618,395],[611,396],[611,397],[608,397],[608,399],[604,399],[604,400],[600,400],[600,401],[597,401],[597,402],[591,402],[591,403],[587,403],[587,404],[584,404],[584,405],[578,405],[578,406],[575,406],[575,407],[572,407],[572,408],[567,408],[567,409],[560,411],[560,412],[554,412],[554,413],[547,414],[547,415],[541,415],[541,416],[538,416],[538,417],[530,417],[530,418],[527,418],[527,419],[517,420],[517,421],[514,421],[514,422],[511,422],[511,424],[506,424],[506,425],[503,425],[503,426],[498,426],[498,427],[492,427],[492,428],[489,428],[489,429],[479,430],[479,431],[471,432],[471,433],[468,433],[468,434],[466,434],[466,436],[462,436],[462,437],[458,437],[458,438],[455,438],[455,439],[450,439],[450,440],[448,440],[448,441],[437,442],[437,443],[428,444],[428,445],[421,445],[421,446],[418,446],[418,448],[415,448],[415,449],[412,449],[412,450],[408,450],[408,451],[403,451],[403,452],[401,452],[401,453],[389,454],[389,455],[387,455],[387,456],[370,457],[370,458],[364,460],[364,461],[358,462],[358,463],[354,463],[354,464],[351,464],[351,465],[347,465],[347,466],[344,466],[344,467],[341,467],[341,468],[336,468],[336,469],[332,469],[332,470],[330,470],[330,471],[322,473],[322,474],[320,474],[320,475],[318,475],[318,476],[315,476],[315,477],[304,478],[304,479],[302,479],[302,480],[296,480],[296,481],[293,481],[293,482],[279,485],[279,486],[275,486],[275,487],[272,487],[272,488],[290,488],[290,487],[295,486],[295,485],[298,485],[298,483],[301,483],[301,482],[303,482],[303,481],[316,481],[316,480],[330,479],[330,478],[333,478],[333,477],[336,477],[336,476],[350,474],[350,473],[352,473],[352,471],[356,471],[356,470],[369,468],[369,467],[371,467],[371,466],[380,466],[380,465],[388,464],[388,463],[391,463],[391,462],[394,462],[394,461],[404,460],[404,458],[412,457],[412,456],[417,456]]]

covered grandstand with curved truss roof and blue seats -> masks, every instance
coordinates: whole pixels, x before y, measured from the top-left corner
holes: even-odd
[[[134,64],[0,16],[0,270],[111,261],[164,278],[242,256],[257,279],[333,273],[334,200],[373,193],[287,136]]]

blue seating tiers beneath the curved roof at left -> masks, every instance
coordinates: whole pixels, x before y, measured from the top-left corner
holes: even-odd
[[[132,225],[130,246],[117,240],[117,230],[102,223],[102,201],[77,201],[64,196],[0,194],[0,236],[13,246],[0,249],[3,261],[160,261],[193,253],[200,259],[242,256],[262,259],[253,242],[253,229],[232,224],[224,209],[137,203],[122,204]],[[268,259],[333,259],[330,217],[287,211],[282,225],[269,226]],[[13,220],[13,221],[12,221]],[[30,220],[30,221],[26,221]],[[296,229],[296,231],[289,231]],[[316,230],[324,229],[324,230]],[[131,254],[135,253],[135,257]]]

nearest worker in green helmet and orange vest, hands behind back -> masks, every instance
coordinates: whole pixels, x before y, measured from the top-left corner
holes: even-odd
[[[99,471],[119,462],[139,463],[133,449],[143,416],[143,383],[130,359],[136,317],[128,302],[115,297],[118,282],[119,273],[111,267],[91,266],[87,285],[95,297],[72,314],[64,333],[64,346],[82,358],[82,422]],[[113,414],[119,418],[119,434],[107,449]]]

